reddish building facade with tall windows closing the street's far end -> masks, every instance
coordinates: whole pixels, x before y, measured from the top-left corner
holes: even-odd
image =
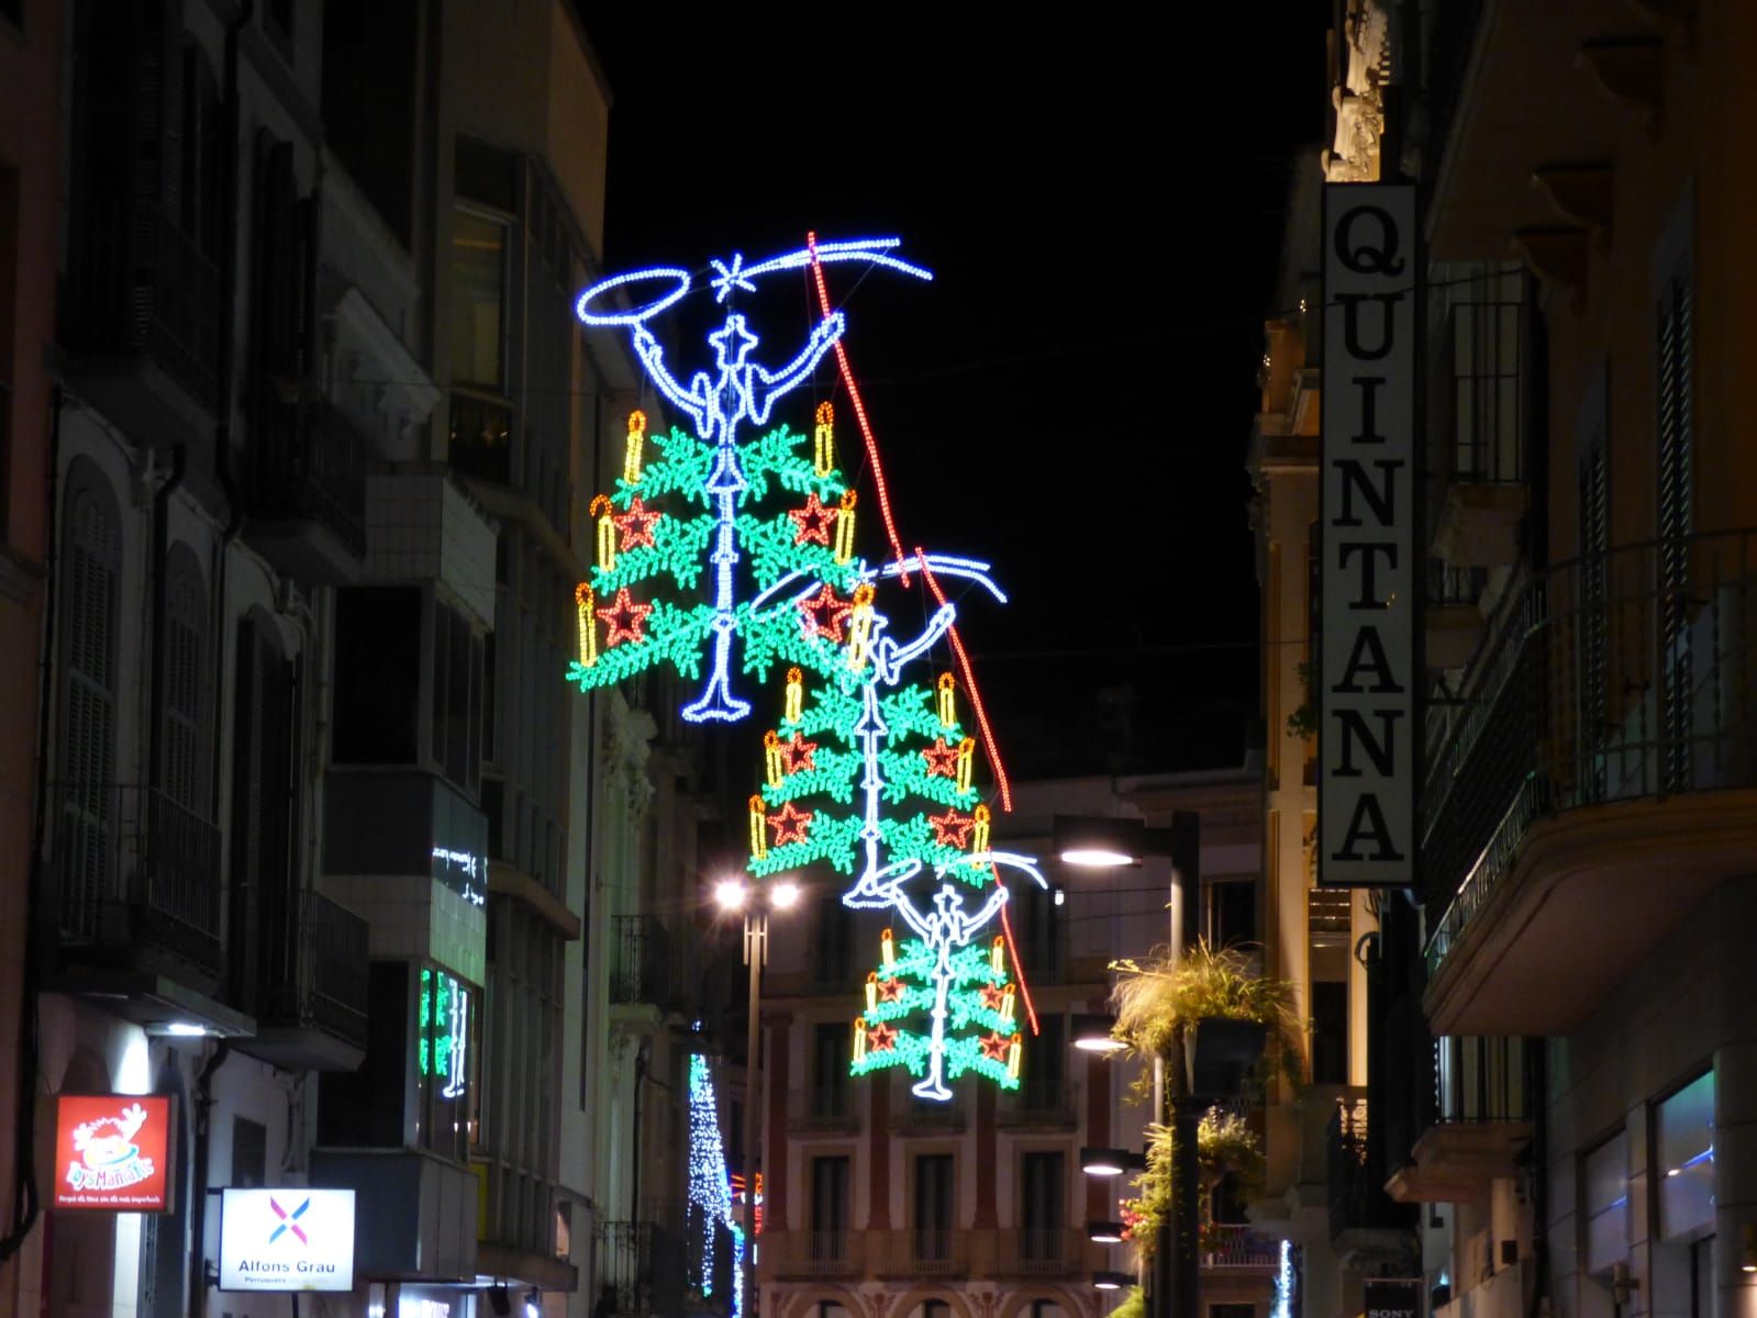
[[[1168,826],[1202,821],[1202,928],[1254,944],[1262,910],[1254,771],[1016,784],[1005,845],[1047,858],[1052,815]],[[1014,884],[1009,917],[1038,1032],[1021,1084],[952,1083],[951,1102],[910,1093],[901,1070],[849,1074],[863,979],[880,958],[882,912],[840,903],[817,880],[770,916],[763,989],[761,1313],[770,1318],[1052,1318],[1110,1307],[1100,1271],[1130,1271],[1126,1246],[1095,1244],[1126,1184],[1081,1174],[1082,1148],[1144,1142],[1146,1104],[1124,1098],[1135,1063],[1072,1051],[1074,1017],[1107,1010],[1117,956],[1170,940],[1165,861],[1102,873],[1045,859],[1049,891]],[[1021,1007],[1023,1016],[1023,1007]],[[1207,1234],[1202,1286],[1228,1314],[1267,1318],[1279,1241],[1242,1218]]]

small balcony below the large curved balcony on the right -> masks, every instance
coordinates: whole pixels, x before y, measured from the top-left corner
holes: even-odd
[[[1522,1039],[1434,1040],[1432,1111],[1409,1162],[1385,1183],[1392,1199],[1465,1204],[1513,1176],[1532,1139]]]

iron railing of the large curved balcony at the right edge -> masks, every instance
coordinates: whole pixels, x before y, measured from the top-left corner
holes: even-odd
[[[1455,893],[1430,979],[1564,810],[1757,786],[1757,531],[1574,559],[1506,603],[1432,757],[1421,872]]]

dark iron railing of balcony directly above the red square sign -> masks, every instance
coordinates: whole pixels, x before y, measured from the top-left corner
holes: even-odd
[[[220,829],[156,787],[51,787],[63,945],[169,954],[218,981]]]

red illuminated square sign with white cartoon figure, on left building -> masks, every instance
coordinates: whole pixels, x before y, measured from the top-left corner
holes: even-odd
[[[63,1093],[54,1104],[54,1207],[169,1213],[170,1095]]]

